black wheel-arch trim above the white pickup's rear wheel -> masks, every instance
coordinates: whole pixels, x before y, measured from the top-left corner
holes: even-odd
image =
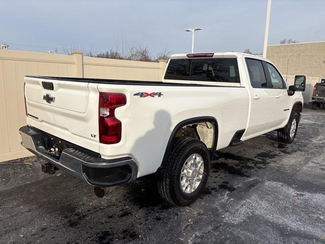
[[[167,146],[166,146],[166,149],[165,149],[165,154],[164,154],[164,158],[163,158],[163,162],[165,160],[167,160],[167,157],[170,153],[170,148],[172,146],[172,143],[173,143],[173,140],[174,140],[174,137],[175,137],[175,134],[176,132],[186,126],[186,125],[190,125],[190,124],[194,124],[194,123],[201,123],[201,122],[210,122],[214,125],[214,139],[213,139],[213,143],[212,143],[212,148],[211,148],[211,152],[210,152],[210,158],[212,159],[212,156],[217,148],[217,143],[218,143],[218,122],[217,120],[214,118],[214,117],[211,117],[211,116],[200,116],[200,117],[193,117],[193,118],[188,118],[188,119],[185,119],[185,120],[182,120],[180,121],[176,126],[175,128],[173,129],[170,137],[169,137],[169,140],[168,140],[168,143],[167,143]],[[163,164],[163,162],[161,162],[161,165]]]

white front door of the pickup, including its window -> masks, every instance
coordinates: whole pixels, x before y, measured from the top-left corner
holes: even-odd
[[[264,61],[263,63],[274,98],[274,115],[269,126],[275,128],[284,123],[290,115],[289,95],[280,72],[272,64]]]

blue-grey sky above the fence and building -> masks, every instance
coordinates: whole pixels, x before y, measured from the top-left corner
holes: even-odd
[[[187,53],[262,53],[267,0],[0,0],[0,42],[9,49],[46,52],[62,44],[104,52],[115,40]],[[325,0],[272,0],[269,45],[284,38],[325,41]]]

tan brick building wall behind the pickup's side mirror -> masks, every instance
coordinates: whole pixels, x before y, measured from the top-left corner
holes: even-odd
[[[267,58],[284,77],[288,74],[289,84],[293,84],[295,75],[305,75],[304,100],[311,102],[314,84],[325,77],[325,42],[271,45],[268,46]]]

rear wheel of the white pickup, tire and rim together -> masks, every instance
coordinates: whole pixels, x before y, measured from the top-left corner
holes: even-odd
[[[174,205],[187,206],[202,194],[207,184],[209,150],[200,140],[176,138],[162,166],[163,177],[157,182],[161,197]]]

